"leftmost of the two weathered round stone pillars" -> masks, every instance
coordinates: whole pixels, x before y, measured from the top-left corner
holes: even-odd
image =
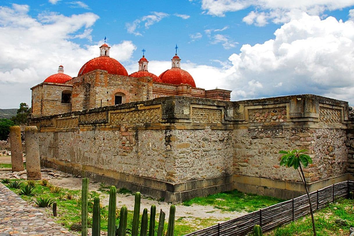
[[[21,129],[19,126],[10,127],[11,170],[23,171],[23,156]]]

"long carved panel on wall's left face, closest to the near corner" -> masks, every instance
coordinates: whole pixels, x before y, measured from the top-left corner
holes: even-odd
[[[159,123],[160,108],[142,109],[134,111],[115,112],[110,114],[112,125],[136,125],[144,123]]]

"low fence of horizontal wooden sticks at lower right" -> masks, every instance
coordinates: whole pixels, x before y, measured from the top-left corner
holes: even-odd
[[[354,191],[354,181],[347,180],[341,183],[330,185],[310,193],[312,208],[315,210],[326,207],[337,198],[346,198],[349,191]],[[310,205],[307,195],[280,202],[273,206],[260,209],[241,217],[201,229],[185,236],[243,236],[253,230],[253,226],[261,225],[262,231],[266,232],[297,220],[309,214]]]

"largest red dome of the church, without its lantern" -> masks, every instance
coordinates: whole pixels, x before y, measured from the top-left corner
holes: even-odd
[[[128,76],[124,66],[112,57],[96,57],[86,62],[79,70],[80,75],[84,75],[92,70],[107,70],[108,74]]]

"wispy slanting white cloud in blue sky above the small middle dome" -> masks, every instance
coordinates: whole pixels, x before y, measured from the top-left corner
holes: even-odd
[[[132,23],[126,23],[125,27],[127,28],[128,33],[134,34],[136,36],[142,36],[142,33],[137,32],[136,30],[141,27],[140,24],[144,23],[145,29],[148,29],[151,25],[158,23],[163,18],[169,16],[169,14],[164,12],[151,12],[152,15],[143,16],[140,19],[136,19]]]

